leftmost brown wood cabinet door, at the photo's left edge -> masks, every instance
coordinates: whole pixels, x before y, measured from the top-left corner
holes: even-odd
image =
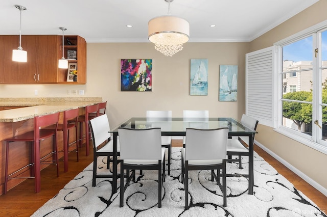
[[[12,50],[19,45],[18,36],[0,36],[0,83],[6,83],[15,77],[13,72],[17,71],[17,62],[12,61]]]

